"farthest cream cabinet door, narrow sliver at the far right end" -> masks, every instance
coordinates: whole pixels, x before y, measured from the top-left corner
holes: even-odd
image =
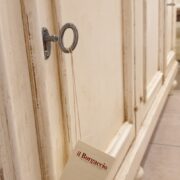
[[[169,72],[175,60],[176,37],[176,7],[175,0],[165,1],[165,74]]]

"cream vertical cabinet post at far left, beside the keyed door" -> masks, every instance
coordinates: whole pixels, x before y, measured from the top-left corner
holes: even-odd
[[[1,111],[4,111],[6,116],[1,116],[1,123],[6,118],[6,128],[9,133],[9,137],[7,133],[4,136],[10,141],[15,178],[17,180],[41,180],[19,0],[1,1],[0,21],[2,23],[0,27],[0,73],[1,98],[3,99]],[[4,132],[7,131],[6,128]],[[9,150],[8,143],[7,141],[7,150]],[[6,167],[4,173],[7,173]]]

